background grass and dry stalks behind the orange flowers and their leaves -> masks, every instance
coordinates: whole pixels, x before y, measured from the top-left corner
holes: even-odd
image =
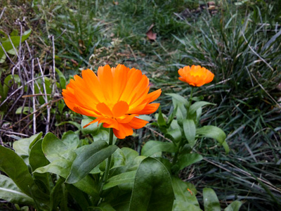
[[[65,106],[61,89],[84,68],[123,63],[143,70],[152,89],[162,88],[168,114],[165,93],[190,93],[178,68],[202,65],[215,79],[195,95],[216,106],[204,109],[201,124],[221,127],[231,151],[201,140],[204,160],[181,178],[199,196],[214,188],[222,206],[238,199],[242,210],[281,209],[281,1],[1,0],[0,9],[2,46],[18,40],[0,49],[2,145],[35,132],[79,129],[81,115]],[[156,37],[147,34],[151,27]],[[148,125],[119,146],[140,151],[157,139],[163,138]],[[0,207],[15,208],[5,201]]]

